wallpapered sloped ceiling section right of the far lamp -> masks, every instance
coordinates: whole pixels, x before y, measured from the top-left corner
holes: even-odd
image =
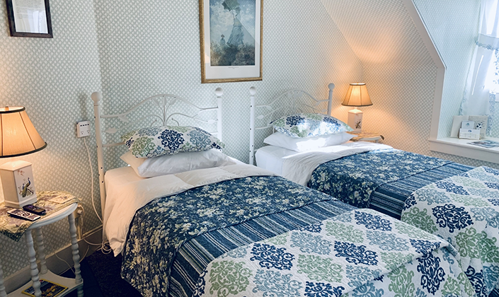
[[[364,130],[383,134],[395,148],[429,155],[437,66],[404,2],[321,0],[362,62],[374,103],[361,107]]]

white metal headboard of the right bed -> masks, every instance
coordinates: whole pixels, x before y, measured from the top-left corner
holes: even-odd
[[[330,83],[328,85],[329,88],[329,98],[328,100],[317,100],[314,98],[314,96],[310,95],[309,93],[306,93],[305,91],[302,90],[297,90],[297,89],[292,89],[285,91],[284,93],[281,93],[280,95],[277,95],[274,100],[272,100],[270,103],[267,105],[256,105],[255,104],[255,95],[256,95],[256,88],[251,87],[250,88],[250,99],[251,99],[251,106],[250,106],[250,158],[249,158],[249,164],[253,165],[254,160],[255,160],[255,132],[256,130],[262,130],[262,129],[268,129],[270,127],[273,127],[273,125],[270,124],[270,122],[273,122],[273,120],[277,120],[277,117],[281,117],[283,114],[284,115],[292,115],[297,112],[303,112],[304,109],[308,110],[313,110],[314,112],[320,112],[320,113],[326,113],[326,115],[331,115],[331,107],[333,103],[333,89],[334,89],[334,83]],[[298,100],[301,98],[309,98],[311,101],[311,105],[299,102]],[[284,104],[279,105],[278,107],[274,107],[273,105],[276,102],[280,102],[283,100],[283,98],[287,98],[287,101]],[[328,108],[326,109],[320,109],[320,105],[322,103],[328,103]],[[260,114],[258,117],[256,116],[256,109],[257,108],[265,108],[265,114]],[[276,116],[277,114],[277,116]],[[255,121],[256,120],[265,120],[265,125],[255,127]]]

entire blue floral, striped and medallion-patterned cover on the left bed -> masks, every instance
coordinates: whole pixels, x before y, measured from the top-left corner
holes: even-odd
[[[227,282],[241,278],[250,282],[250,293],[239,292],[244,296],[340,296],[348,291],[355,296],[379,296],[382,291],[393,296],[471,296],[473,289],[444,240],[374,211],[353,209],[321,192],[268,176],[154,199],[134,216],[122,277],[144,296],[212,295],[211,288],[220,284],[214,295],[234,296],[222,287],[232,288]],[[253,248],[258,255],[251,254]],[[243,250],[254,257],[242,261],[246,264],[260,267],[271,260],[261,273],[255,272],[258,280],[257,274],[250,277],[238,266],[240,260],[232,269],[240,267],[241,275],[219,275],[214,278],[218,281],[206,276],[212,260],[229,252],[219,258],[228,260]],[[341,269],[321,272],[324,265]],[[285,284],[288,277],[301,280]],[[265,281],[272,287],[265,289]]]

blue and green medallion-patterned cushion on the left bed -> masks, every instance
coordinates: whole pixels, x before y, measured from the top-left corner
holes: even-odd
[[[142,128],[121,136],[121,140],[137,158],[154,158],[183,151],[207,151],[225,147],[225,144],[212,134],[189,126]]]

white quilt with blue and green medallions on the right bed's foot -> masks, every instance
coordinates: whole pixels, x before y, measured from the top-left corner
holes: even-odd
[[[499,170],[479,167],[416,190],[402,220],[457,249],[476,296],[499,288]]]

